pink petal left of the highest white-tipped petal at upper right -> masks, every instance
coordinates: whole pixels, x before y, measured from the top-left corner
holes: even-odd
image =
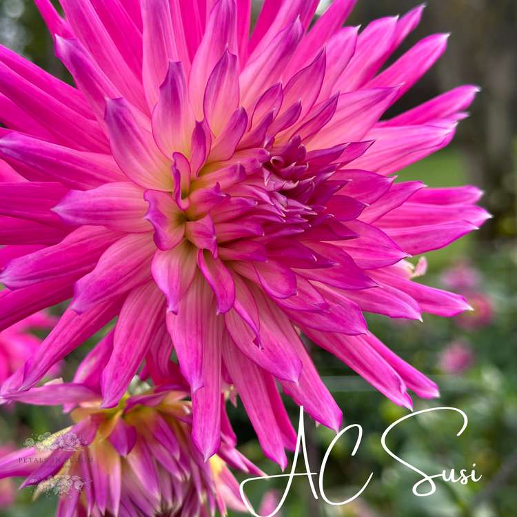
[[[396,17],[369,23],[359,34],[354,56],[336,82],[336,88],[343,92],[352,92],[361,86],[369,69],[392,47],[396,23]]]

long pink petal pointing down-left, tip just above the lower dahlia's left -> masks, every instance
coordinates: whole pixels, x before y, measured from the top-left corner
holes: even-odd
[[[101,376],[101,407],[119,403],[158,332],[164,312],[165,297],[154,282],[134,287],[125,299],[116,321],[113,352]]]

